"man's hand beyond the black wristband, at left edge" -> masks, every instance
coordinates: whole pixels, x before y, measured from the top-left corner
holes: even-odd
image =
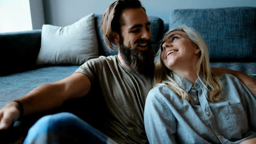
[[[19,104],[11,101],[0,110],[0,130],[9,128],[19,117]]]

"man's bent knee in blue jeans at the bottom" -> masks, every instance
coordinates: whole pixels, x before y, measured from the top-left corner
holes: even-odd
[[[28,131],[24,143],[116,143],[72,113],[40,118]]]

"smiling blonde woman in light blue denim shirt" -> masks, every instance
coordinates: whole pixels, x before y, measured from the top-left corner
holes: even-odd
[[[150,143],[256,141],[254,96],[235,76],[211,73],[199,34],[187,26],[168,31],[158,56],[144,111]]]

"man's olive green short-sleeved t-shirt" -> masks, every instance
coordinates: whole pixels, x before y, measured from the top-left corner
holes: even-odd
[[[102,119],[102,133],[118,143],[148,143],[143,115],[153,77],[125,68],[117,55],[91,59],[75,73],[88,76],[92,89],[98,87],[104,97],[108,116]]]

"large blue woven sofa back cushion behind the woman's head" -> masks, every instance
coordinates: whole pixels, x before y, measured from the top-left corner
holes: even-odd
[[[211,62],[256,62],[256,8],[176,9],[170,28],[185,24],[198,31]]]

